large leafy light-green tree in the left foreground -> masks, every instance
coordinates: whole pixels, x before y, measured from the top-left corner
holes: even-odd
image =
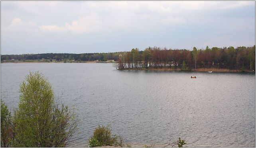
[[[74,111],[55,102],[51,84],[39,72],[28,74],[20,93],[14,146],[65,147],[77,127]]]

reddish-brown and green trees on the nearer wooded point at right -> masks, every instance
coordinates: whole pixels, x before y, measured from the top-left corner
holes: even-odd
[[[143,52],[132,49],[119,55],[117,69],[132,68],[227,68],[236,70],[255,70],[255,45],[253,47],[213,47],[172,50],[148,47]]]

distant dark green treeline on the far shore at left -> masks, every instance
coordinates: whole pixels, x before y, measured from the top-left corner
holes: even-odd
[[[83,54],[72,54],[72,53],[43,53],[43,54],[23,54],[23,55],[1,55],[1,61],[3,60],[77,60],[77,61],[106,61],[108,59],[118,60],[118,56],[121,52],[115,53],[83,53]]]

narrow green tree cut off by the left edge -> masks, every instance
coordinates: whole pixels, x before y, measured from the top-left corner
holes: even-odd
[[[5,103],[1,100],[1,147],[12,146],[12,116]]]

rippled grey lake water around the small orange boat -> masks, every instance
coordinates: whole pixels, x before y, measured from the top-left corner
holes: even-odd
[[[1,99],[18,107],[20,83],[39,71],[81,120],[69,146],[111,124],[133,146],[255,147],[255,74],[116,70],[105,63],[1,64]],[[197,76],[197,79],[191,79]]]

